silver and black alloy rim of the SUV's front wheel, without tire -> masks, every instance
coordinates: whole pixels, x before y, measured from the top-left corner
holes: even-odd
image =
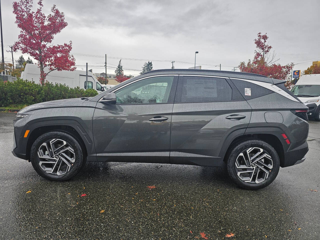
[[[50,139],[38,149],[39,165],[52,175],[63,175],[70,171],[76,155],[70,144],[61,139]]]

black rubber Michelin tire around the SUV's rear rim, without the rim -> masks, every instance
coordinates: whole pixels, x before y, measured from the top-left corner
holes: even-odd
[[[236,172],[236,159],[239,156],[239,154],[242,153],[244,150],[253,147],[262,148],[263,150],[265,150],[268,153],[268,155],[271,156],[273,162],[273,166],[271,172],[268,174],[268,177],[260,183],[244,182],[244,180],[241,180],[238,177]],[[257,190],[267,187],[271,182],[273,182],[273,180],[275,180],[279,172],[280,161],[276,150],[268,143],[258,139],[250,139],[238,142],[230,148],[226,158],[226,165],[227,172],[236,185],[249,190]]]

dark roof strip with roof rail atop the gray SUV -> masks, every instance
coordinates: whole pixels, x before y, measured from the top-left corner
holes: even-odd
[[[208,69],[157,69],[157,70],[148,71],[141,75],[160,75],[160,74],[167,74],[168,72],[171,72],[172,74],[212,75],[212,76],[243,78],[243,79],[249,79],[249,80],[255,80],[255,81],[274,84],[274,81],[271,78],[260,75],[260,74],[234,72],[234,71],[208,70]]]

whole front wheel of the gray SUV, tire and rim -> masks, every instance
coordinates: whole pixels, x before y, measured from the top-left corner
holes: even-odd
[[[75,176],[84,164],[79,142],[65,132],[46,132],[36,139],[30,151],[36,172],[51,181],[64,181]]]

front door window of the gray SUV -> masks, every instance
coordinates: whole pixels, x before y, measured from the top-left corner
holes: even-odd
[[[116,91],[120,104],[168,103],[174,76],[151,77],[132,83]]]

